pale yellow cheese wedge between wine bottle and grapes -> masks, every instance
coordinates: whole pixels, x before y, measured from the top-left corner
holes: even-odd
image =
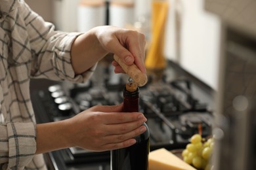
[[[188,163],[166,150],[160,148],[149,154],[149,170],[196,170]]]

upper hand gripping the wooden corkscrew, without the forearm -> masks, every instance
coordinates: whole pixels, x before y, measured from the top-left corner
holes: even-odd
[[[135,63],[142,73],[146,73],[144,67],[146,41],[142,33],[113,26],[95,29],[95,35],[106,51],[116,54],[127,65]],[[124,73],[116,61],[112,64],[116,67],[116,73]]]

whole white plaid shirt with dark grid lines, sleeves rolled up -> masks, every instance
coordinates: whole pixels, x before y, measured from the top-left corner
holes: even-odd
[[[35,155],[30,78],[85,82],[75,75],[70,48],[79,33],[54,31],[24,0],[0,0],[0,169],[47,169]]]

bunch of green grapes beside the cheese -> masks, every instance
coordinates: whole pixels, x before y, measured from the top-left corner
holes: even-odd
[[[213,145],[212,137],[206,140],[201,135],[195,134],[182,152],[183,160],[196,169],[210,170]]]

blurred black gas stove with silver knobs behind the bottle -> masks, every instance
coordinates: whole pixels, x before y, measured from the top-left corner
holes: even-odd
[[[35,93],[33,103],[37,121],[64,120],[95,105],[121,103],[128,77],[116,75],[112,69],[99,63],[86,84],[63,82]],[[150,150],[184,148],[194,133],[202,133],[203,137],[211,135],[211,94],[206,93],[205,97],[202,89],[186,76],[175,73],[173,77],[173,69],[165,69],[160,75],[149,75],[146,86],[140,88],[139,109],[148,119]],[[66,165],[66,169],[91,162],[102,162],[106,164],[106,169],[109,168],[110,152],[68,148],[52,154],[58,155],[58,160]]]

